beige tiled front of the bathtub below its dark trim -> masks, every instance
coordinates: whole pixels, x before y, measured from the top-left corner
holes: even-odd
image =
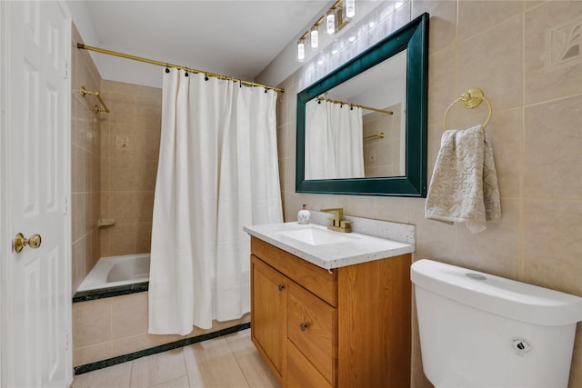
[[[151,335],[147,333],[147,294],[74,303],[73,365],[95,363],[250,322],[250,314],[246,314],[239,320],[215,321],[209,330],[194,327],[187,335]]]

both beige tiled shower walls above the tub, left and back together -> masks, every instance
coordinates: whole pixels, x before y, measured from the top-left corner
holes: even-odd
[[[150,252],[162,112],[158,88],[102,80],[73,26],[72,290],[99,257]],[[96,114],[98,91],[110,113]],[[98,227],[99,219],[115,224]]]

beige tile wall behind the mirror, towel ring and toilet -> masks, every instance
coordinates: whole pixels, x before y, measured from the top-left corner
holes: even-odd
[[[493,105],[492,137],[503,218],[480,234],[424,218],[424,199],[295,193],[296,93],[301,70],[279,94],[278,149],[286,221],[301,204],[343,206],[346,214],[416,225],[415,259],[468,266],[582,296],[582,47],[560,60],[569,26],[582,24],[579,1],[413,1],[430,14],[428,171],[437,158],[448,104],[469,87]],[[406,10],[405,10],[406,12]],[[485,107],[453,109],[465,128]],[[430,173],[428,178],[430,179]],[[413,386],[430,387],[413,330]],[[582,324],[569,387],[582,386]]]

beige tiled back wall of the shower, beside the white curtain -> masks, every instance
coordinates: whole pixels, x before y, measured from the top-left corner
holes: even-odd
[[[101,256],[150,252],[162,117],[161,89],[101,81]]]

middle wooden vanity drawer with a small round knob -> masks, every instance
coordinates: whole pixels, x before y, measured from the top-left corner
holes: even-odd
[[[287,338],[329,383],[336,379],[337,311],[313,293],[288,282]]]

